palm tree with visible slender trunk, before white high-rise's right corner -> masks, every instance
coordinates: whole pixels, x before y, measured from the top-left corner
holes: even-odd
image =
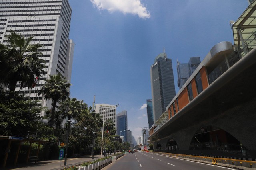
[[[50,119],[50,127],[54,125],[55,108],[56,103],[59,100],[65,100],[69,96],[69,88],[71,84],[60,74],[50,75],[50,78],[46,80],[46,84],[40,90],[46,100],[52,99],[52,114]]]

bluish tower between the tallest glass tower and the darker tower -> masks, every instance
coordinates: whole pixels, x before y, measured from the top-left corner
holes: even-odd
[[[181,89],[189,78],[188,63],[180,63],[177,61],[178,87]]]

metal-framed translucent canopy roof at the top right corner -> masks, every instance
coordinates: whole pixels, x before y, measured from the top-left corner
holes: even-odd
[[[232,24],[232,23],[230,23]],[[242,56],[256,47],[256,0],[254,0],[233,24],[234,44]]]

